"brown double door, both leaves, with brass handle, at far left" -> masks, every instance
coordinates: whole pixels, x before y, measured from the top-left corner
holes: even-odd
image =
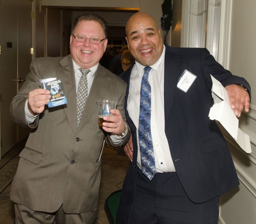
[[[33,0],[0,2],[0,158],[29,133],[29,129],[13,123],[9,108],[23,84],[17,80],[26,78],[33,58],[32,8]]]

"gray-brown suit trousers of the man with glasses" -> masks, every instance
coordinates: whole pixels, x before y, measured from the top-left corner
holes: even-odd
[[[63,206],[56,212],[33,211],[22,204],[14,204],[15,224],[92,224],[97,208],[79,214],[67,214]]]

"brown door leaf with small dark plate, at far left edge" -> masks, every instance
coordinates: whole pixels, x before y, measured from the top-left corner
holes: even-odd
[[[10,103],[17,93],[17,0],[0,3],[0,158],[17,143],[17,126],[9,114]]]

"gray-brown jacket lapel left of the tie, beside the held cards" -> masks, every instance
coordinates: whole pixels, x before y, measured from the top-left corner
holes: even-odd
[[[62,65],[62,67],[57,68],[57,79],[61,79],[63,83],[65,95],[68,102],[67,104],[63,105],[63,108],[73,132],[76,133],[76,81],[71,56],[66,56],[60,61],[60,64]]]

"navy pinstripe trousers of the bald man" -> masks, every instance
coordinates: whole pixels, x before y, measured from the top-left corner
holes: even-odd
[[[127,217],[128,224],[218,223],[220,196],[200,204],[192,202],[176,172],[157,173],[153,180],[149,181],[137,167],[133,198]],[[123,210],[122,206],[127,209],[127,204],[120,202],[120,210]],[[126,222],[123,220],[122,224],[124,223]]]

